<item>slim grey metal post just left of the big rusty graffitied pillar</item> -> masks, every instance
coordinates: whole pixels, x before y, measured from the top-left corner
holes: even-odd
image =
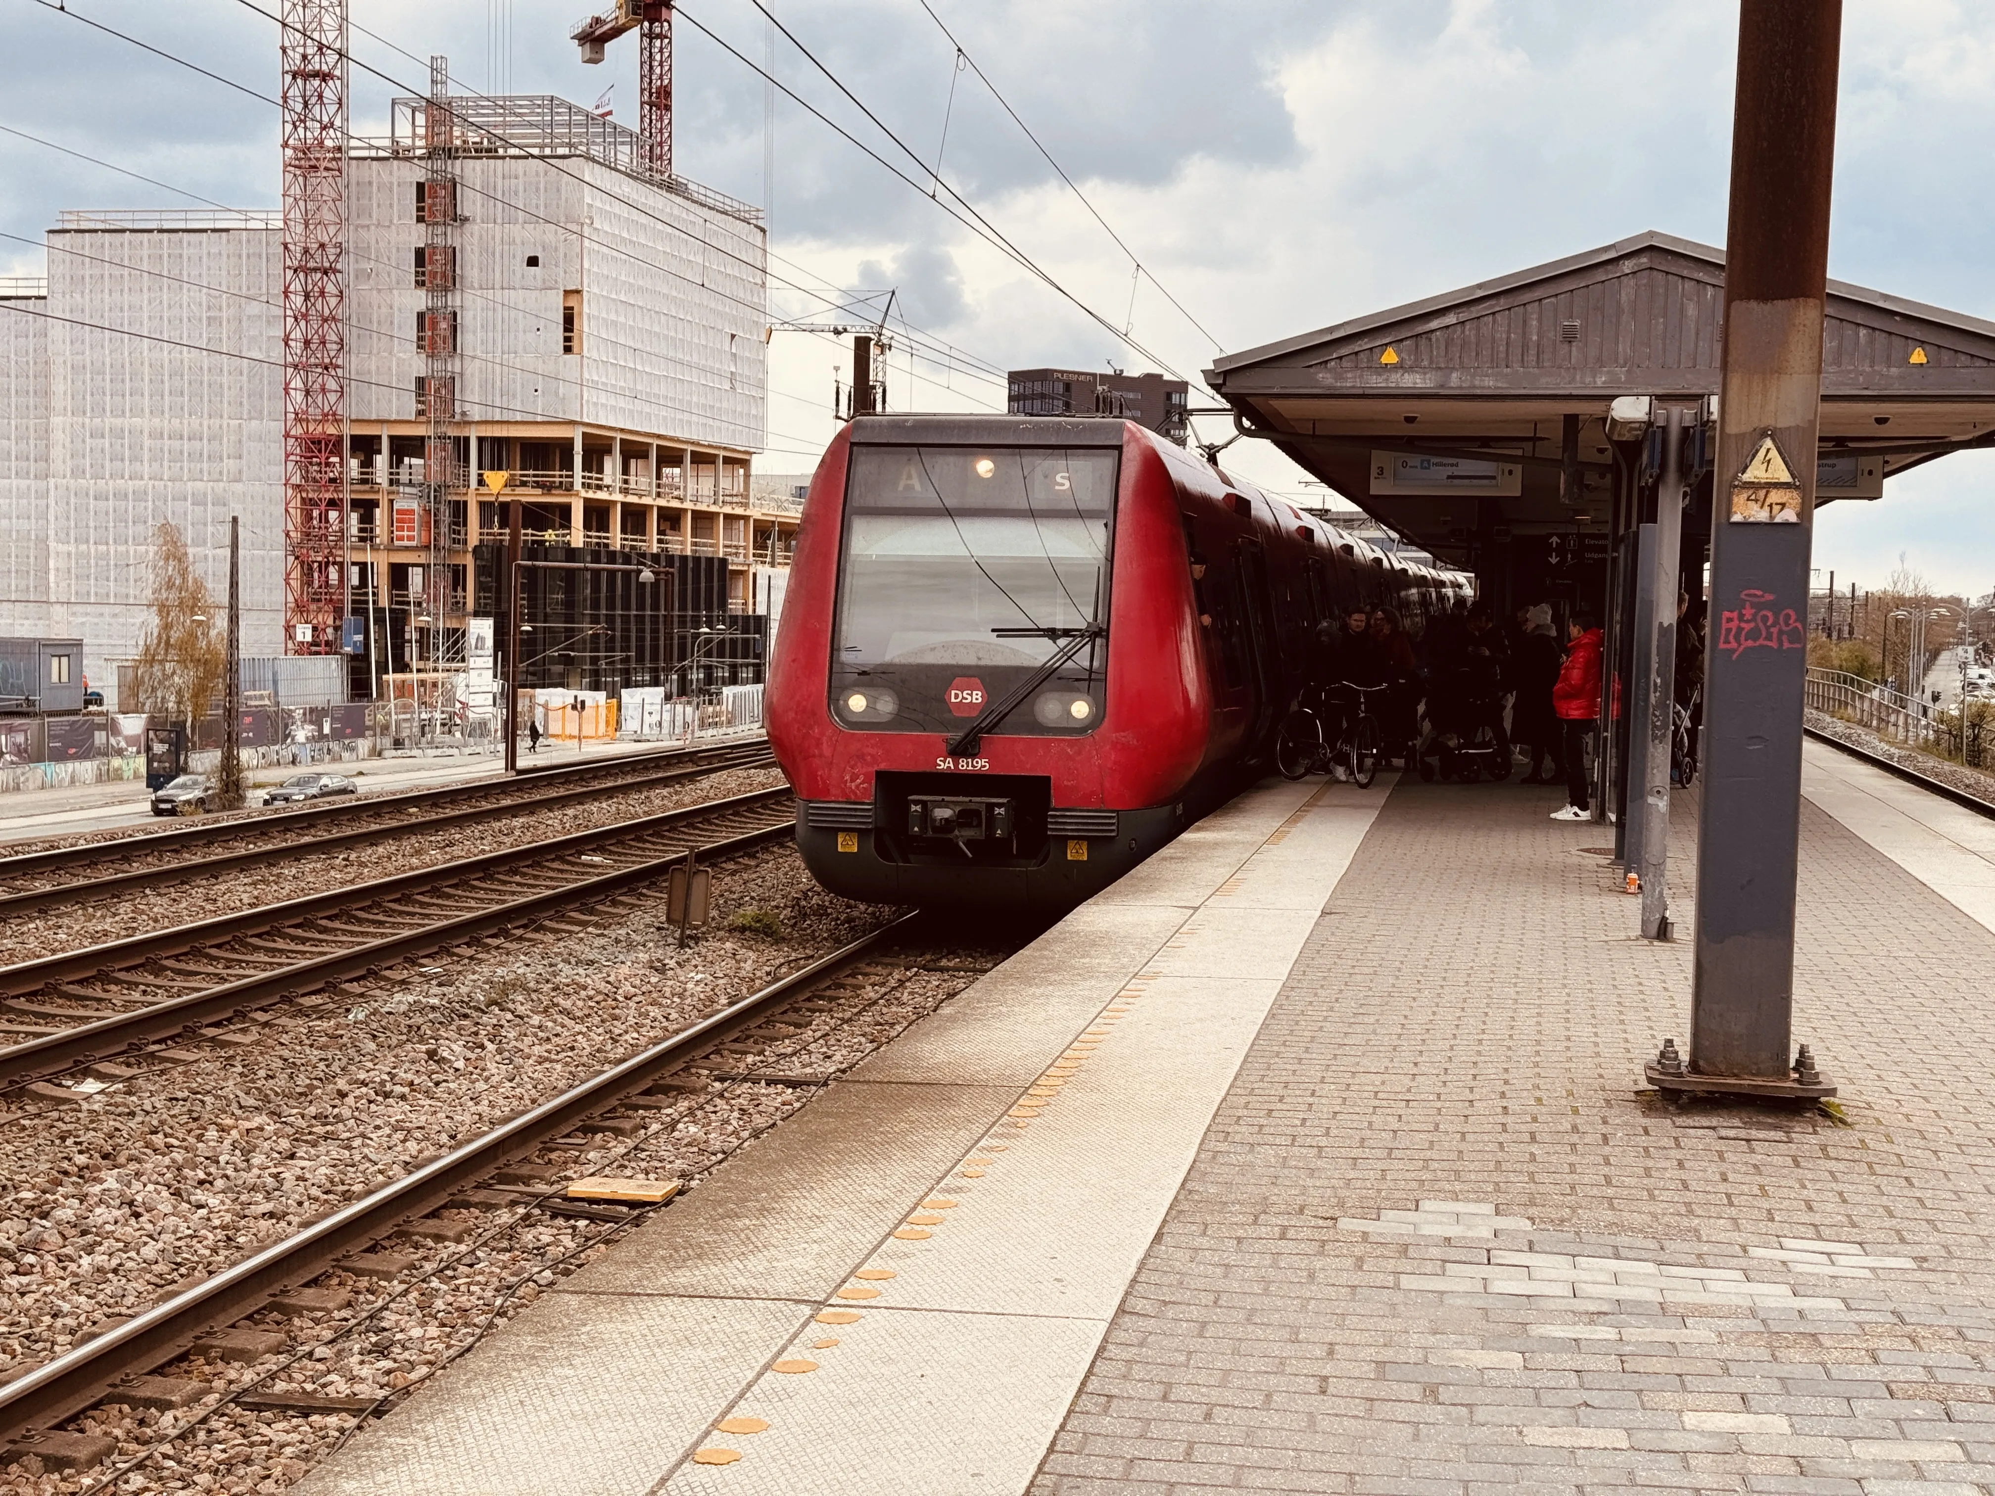
[[[1646,738],[1642,778],[1630,780],[1628,820],[1642,826],[1642,860],[1630,866],[1642,874],[1642,934],[1670,937],[1670,740],[1676,730],[1676,594],[1684,551],[1684,425],[1696,411],[1668,407],[1662,433],[1662,479],[1656,487],[1656,616],[1648,648],[1648,670],[1636,676],[1634,730]]]

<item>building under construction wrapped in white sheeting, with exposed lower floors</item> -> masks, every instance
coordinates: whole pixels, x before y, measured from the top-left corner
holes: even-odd
[[[708,557],[682,596],[718,578],[752,610],[800,511],[750,481],[758,209],[648,174],[634,132],[567,100],[451,96],[441,70],[387,138],[349,142],[345,205],[333,612],[301,622],[295,535],[287,602],[281,213],[66,211],[46,283],[0,283],[44,313],[0,315],[0,634],[80,636],[112,680],[154,529],[182,529],[219,596],[235,515],[243,654],[343,648],[365,694],[465,658],[511,499],[529,555]]]

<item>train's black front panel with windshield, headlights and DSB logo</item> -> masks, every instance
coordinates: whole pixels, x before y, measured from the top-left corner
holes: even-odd
[[[1117,463],[1099,447],[854,447],[832,714],[866,732],[960,732],[1073,650],[990,732],[1093,732]]]

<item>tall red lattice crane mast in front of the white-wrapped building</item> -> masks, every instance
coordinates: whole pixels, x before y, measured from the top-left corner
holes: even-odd
[[[283,638],[331,654],[345,616],[347,6],[285,0]]]

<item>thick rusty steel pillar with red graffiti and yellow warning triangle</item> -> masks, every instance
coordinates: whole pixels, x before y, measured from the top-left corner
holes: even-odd
[[[1648,1067],[1676,1091],[1833,1095],[1792,1009],[1841,12],[1740,4],[1690,1055]]]

